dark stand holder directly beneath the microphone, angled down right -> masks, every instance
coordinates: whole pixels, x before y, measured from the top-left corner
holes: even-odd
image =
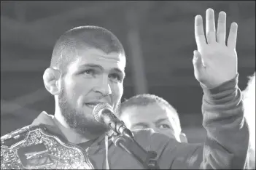
[[[114,142],[117,147],[121,147],[127,153],[133,155],[140,163],[142,163],[145,169],[159,169],[158,161],[156,159],[157,153],[151,150],[144,150],[133,137],[117,135],[112,137],[112,142]]]

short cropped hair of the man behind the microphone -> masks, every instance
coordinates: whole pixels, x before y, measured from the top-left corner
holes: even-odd
[[[155,94],[138,94],[136,96],[129,98],[128,100],[125,100],[120,105],[120,111],[118,112],[119,113],[118,116],[121,116],[122,112],[127,108],[132,108],[134,106],[135,107],[147,106],[147,105],[153,105],[153,104],[158,104],[161,107],[166,106],[166,108],[170,110],[174,110],[174,112],[172,112],[174,114],[174,122],[177,128],[179,129],[179,131],[181,131],[179,115],[177,113],[177,110],[174,107],[172,107],[162,97],[158,97]]]

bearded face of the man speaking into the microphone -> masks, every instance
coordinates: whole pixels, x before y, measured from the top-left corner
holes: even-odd
[[[93,108],[98,102],[107,102],[113,108],[119,106],[125,57],[98,49],[81,49],[77,54],[77,60],[68,65],[62,78],[58,97],[61,112],[69,126],[80,134],[84,131],[102,134],[106,126],[95,121]]]

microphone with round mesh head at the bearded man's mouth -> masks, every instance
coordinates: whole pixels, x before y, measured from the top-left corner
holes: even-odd
[[[114,111],[108,103],[99,103],[93,108],[93,116],[101,124],[106,124],[117,134],[123,134],[133,139],[133,134],[126,128],[123,121],[120,121],[114,114]]]

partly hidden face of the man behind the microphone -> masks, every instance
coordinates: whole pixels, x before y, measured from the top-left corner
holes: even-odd
[[[151,104],[147,106],[129,107],[122,111],[120,119],[125,122],[128,129],[147,129],[151,128],[168,137],[177,139],[180,142],[177,125],[174,123],[174,113],[165,106]]]

